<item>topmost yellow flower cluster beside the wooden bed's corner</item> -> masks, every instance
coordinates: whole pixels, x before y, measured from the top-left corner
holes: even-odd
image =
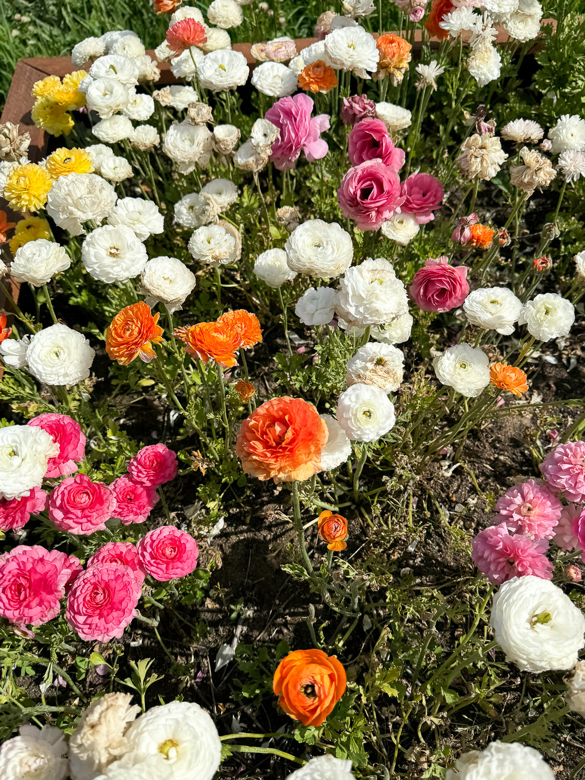
[[[32,94],[37,101],[31,112],[34,124],[51,136],[69,135],[73,127],[69,112],[85,105],[85,94],[79,89],[85,76],[85,70],[76,70],[63,76],[63,80],[58,76],[47,76],[35,82]]]

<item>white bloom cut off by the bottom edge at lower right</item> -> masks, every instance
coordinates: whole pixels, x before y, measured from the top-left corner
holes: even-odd
[[[463,753],[447,770],[447,780],[555,780],[555,775],[534,747],[492,742],[485,750]]]

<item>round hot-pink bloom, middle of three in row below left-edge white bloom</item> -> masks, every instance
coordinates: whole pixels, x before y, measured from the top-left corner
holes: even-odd
[[[108,485],[92,482],[87,474],[66,477],[49,495],[49,518],[69,534],[103,531],[114,508],[114,494]]]

